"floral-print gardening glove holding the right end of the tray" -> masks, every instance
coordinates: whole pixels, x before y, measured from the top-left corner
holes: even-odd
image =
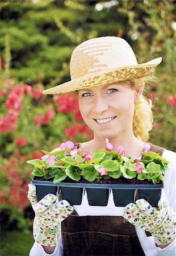
[[[158,207],[152,207],[144,199],[128,204],[123,212],[125,220],[152,234],[157,245],[166,245],[175,238],[175,212],[168,200],[161,197]]]

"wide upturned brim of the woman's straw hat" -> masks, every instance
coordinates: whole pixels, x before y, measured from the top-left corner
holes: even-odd
[[[112,82],[120,82],[136,77],[149,76],[154,72],[154,68],[156,68],[161,61],[162,57],[158,57],[144,64],[102,70],[44,90],[43,94],[64,94],[80,89],[110,84]]]

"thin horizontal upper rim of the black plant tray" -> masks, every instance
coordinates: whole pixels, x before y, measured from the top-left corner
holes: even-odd
[[[97,183],[53,183],[53,181],[43,181],[32,179],[34,185],[45,185],[54,187],[75,187],[75,188],[107,188],[107,189],[162,189],[164,184],[97,184]]]

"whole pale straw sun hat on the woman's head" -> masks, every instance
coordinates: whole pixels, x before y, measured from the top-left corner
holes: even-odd
[[[122,38],[104,36],[77,46],[70,59],[71,81],[44,90],[43,94],[63,94],[112,82],[148,76],[161,57],[138,64],[131,46]]]

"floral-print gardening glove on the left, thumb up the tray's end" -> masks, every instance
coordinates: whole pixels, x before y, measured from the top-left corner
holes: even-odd
[[[68,201],[56,203],[57,196],[48,194],[37,203],[36,187],[28,185],[28,199],[35,212],[33,220],[33,237],[36,242],[44,246],[56,246],[61,234],[61,222],[72,212],[73,207]]]

